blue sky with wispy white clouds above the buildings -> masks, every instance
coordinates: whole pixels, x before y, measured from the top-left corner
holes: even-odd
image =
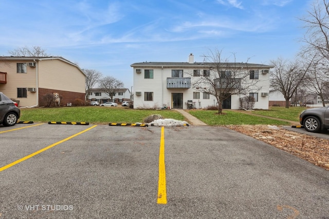
[[[312,0],[0,0],[0,55],[40,46],[81,68],[133,85],[138,62],[294,58]],[[233,61],[233,59],[232,59]]]

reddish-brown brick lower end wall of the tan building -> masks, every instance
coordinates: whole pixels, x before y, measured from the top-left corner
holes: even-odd
[[[43,96],[48,93],[58,93],[61,97],[61,106],[66,106],[67,103],[74,103],[75,99],[82,99],[84,101],[85,94],[72,92],[72,91],[63,91],[63,90],[54,90],[54,89],[45,89],[39,88],[39,103],[40,106],[44,106]]]

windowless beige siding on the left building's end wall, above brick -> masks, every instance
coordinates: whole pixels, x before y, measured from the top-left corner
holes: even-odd
[[[85,92],[85,76],[73,65],[59,59],[39,62],[39,87],[72,92]]]

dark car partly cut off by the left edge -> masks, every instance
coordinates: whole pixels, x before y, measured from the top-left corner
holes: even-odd
[[[20,108],[5,94],[0,92],[0,124],[14,126],[21,116]]]

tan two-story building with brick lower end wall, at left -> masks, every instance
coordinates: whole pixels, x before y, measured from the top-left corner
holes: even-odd
[[[0,91],[19,107],[43,106],[43,96],[61,97],[60,105],[85,100],[85,73],[63,57],[0,57]]]

